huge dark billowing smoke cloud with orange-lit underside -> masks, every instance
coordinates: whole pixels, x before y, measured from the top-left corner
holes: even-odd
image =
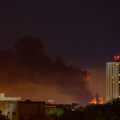
[[[86,103],[91,97],[89,75],[63,59],[47,54],[43,42],[25,37],[13,50],[0,53],[0,89],[24,99]]]

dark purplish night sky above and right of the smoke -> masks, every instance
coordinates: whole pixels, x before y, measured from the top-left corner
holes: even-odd
[[[119,6],[120,2],[112,0],[2,1],[0,50],[12,49],[15,41],[24,36],[41,38],[47,54],[62,57],[65,64],[71,63],[87,70],[91,76],[88,88],[93,95],[99,93],[104,98],[105,63],[113,61],[113,55],[120,54]],[[11,93],[5,88],[1,91],[8,95],[22,96],[20,87],[15,94],[12,93],[14,89]]]

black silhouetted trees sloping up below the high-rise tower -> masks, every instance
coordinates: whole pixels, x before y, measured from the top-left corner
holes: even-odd
[[[102,105],[88,105],[74,111],[64,111],[57,120],[120,120],[120,99]]]

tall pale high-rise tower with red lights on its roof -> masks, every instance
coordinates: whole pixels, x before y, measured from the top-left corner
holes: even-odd
[[[106,63],[106,102],[120,97],[120,56]]]

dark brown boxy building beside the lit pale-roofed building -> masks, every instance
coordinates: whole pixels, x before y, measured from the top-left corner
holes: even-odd
[[[18,102],[18,120],[45,120],[45,102]]]

